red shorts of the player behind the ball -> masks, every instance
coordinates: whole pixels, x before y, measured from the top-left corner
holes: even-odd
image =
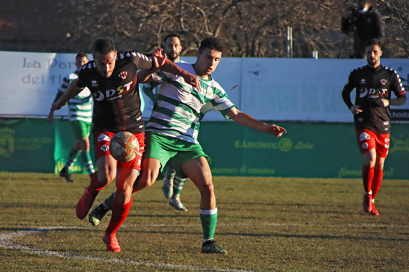
[[[95,146],[95,157],[96,159],[111,155],[109,152],[109,141],[115,133],[106,132],[106,131],[96,131],[94,133],[94,146]],[[139,152],[136,157],[132,161],[121,162],[117,161],[117,167],[120,168],[134,168],[136,170],[141,170],[141,162],[142,162],[142,154],[145,150],[145,133],[137,133],[134,134],[135,137],[138,139],[139,142]]]

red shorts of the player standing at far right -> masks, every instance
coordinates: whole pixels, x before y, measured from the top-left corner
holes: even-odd
[[[386,158],[389,151],[389,136],[389,133],[380,134],[367,129],[357,130],[358,144],[361,153],[364,154],[372,148],[375,148],[376,155]]]

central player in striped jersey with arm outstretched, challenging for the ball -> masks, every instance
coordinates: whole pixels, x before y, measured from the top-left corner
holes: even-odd
[[[210,158],[203,152],[197,135],[200,120],[210,111],[220,112],[226,119],[265,131],[280,137],[285,131],[276,125],[258,121],[240,112],[230,102],[223,88],[211,77],[223,51],[217,38],[205,38],[200,43],[195,64],[178,63],[180,68],[198,75],[200,89],[191,86],[171,73],[158,69],[141,70],[139,80],[154,80],[162,83],[155,97],[155,105],[146,127],[146,148],[142,172],[134,184],[133,192],[151,186],[157,177],[162,179],[166,166],[171,162],[182,177],[189,177],[200,191],[200,220],[203,229],[203,253],[227,251],[218,247],[213,240],[216,229],[217,208],[214,195]],[[215,133],[215,138],[217,133]]]

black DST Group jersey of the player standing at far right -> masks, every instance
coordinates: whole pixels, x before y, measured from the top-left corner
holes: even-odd
[[[389,106],[379,106],[375,100],[388,99],[390,105],[396,106],[406,102],[405,88],[396,71],[383,65],[376,68],[364,66],[353,70],[342,91],[342,98],[348,108],[353,106],[351,92],[354,88],[356,88],[355,105],[359,105],[362,110],[361,113],[354,115],[355,128],[368,129],[381,134],[389,133]],[[391,92],[397,98],[391,99]]]

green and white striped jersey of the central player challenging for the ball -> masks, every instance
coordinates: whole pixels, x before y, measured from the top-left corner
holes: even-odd
[[[177,65],[196,75],[192,64]],[[145,131],[155,131],[198,144],[199,122],[208,111],[218,111],[225,119],[229,119],[227,113],[236,107],[211,75],[209,80],[199,77],[202,88],[200,92],[178,75],[159,71],[152,77],[162,86],[155,96],[153,111]]]

